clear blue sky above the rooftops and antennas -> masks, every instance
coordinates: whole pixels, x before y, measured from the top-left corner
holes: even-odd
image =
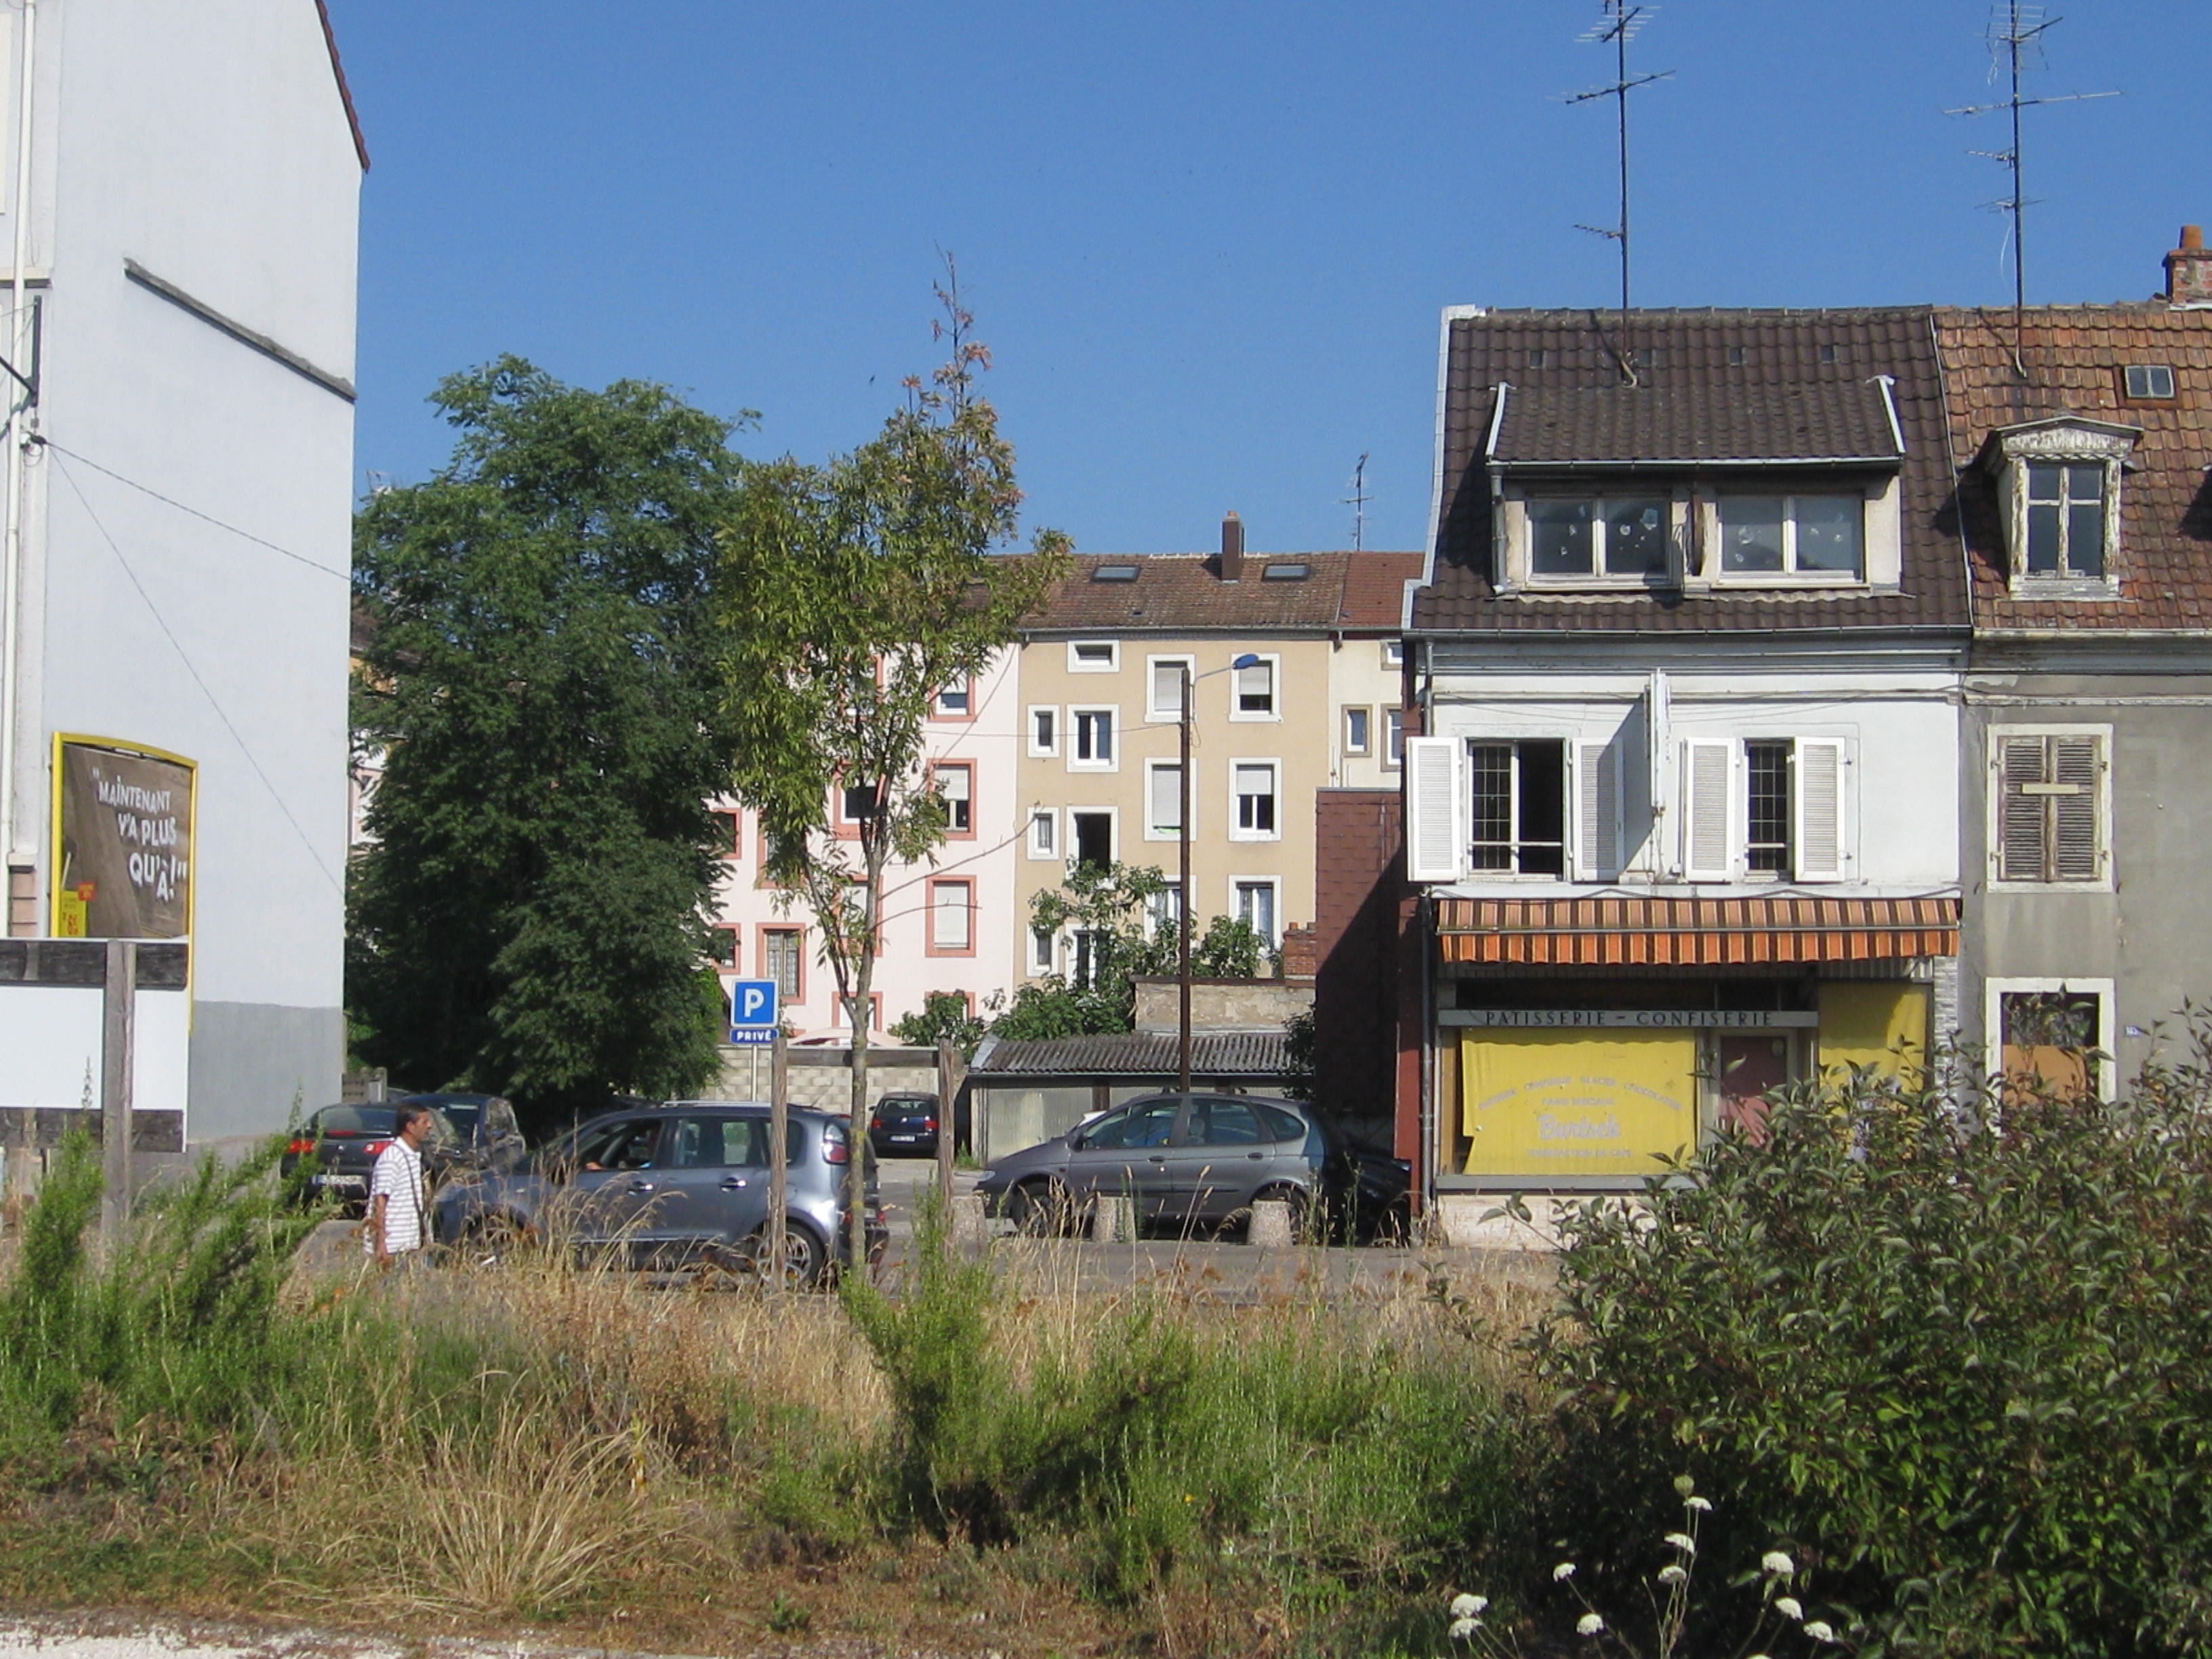
[[[1084,551],[1418,549],[1438,310],[1604,305],[1597,0],[330,0],[374,170],[356,460],[442,374],[865,440],[958,254],[1031,524]],[[2141,299],[2212,221],[2205,0],[2075,0],[2031,91],[2031,301]],[[1637,42],[1639,305],[2008,303],[1984,0],[1668,0]]]

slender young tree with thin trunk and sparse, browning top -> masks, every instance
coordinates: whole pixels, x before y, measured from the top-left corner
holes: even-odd
[[[951,361],[927,385],[909,378],[905,407],[849,456],[748,467],[721,557],[734,787],[761,814],[770,880],[814,911],[854,1033],[856,1146],[885,869],[945,838],[925,721],[938,690],[980,677],[1013,641],[1066,546],[1044,531],[1035,557],[995,557],[1022,502],[1013,447],[975,394],[991,358],[969,336],[951,261],[938,299]],[[860,1179],[854,1159],[854,1261]]]

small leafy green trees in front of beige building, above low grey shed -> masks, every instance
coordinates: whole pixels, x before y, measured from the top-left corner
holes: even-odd
[[[1157,920],[1170,891],[1152,865],[1071,863],[1060,887],[1031,896],[1029,925],[1075,940],[1073,973],[1022,984],[991,1031],[1033,1040],[1135,1029],[1137,980],[1181,967],[1175,927]],[[1172,918],[1172,907],[1166,914]],[[1214,916],[1190,940],[1190,973],[1199,980],[1254,980],[1272,962],[1267,940],[1237,916]]]

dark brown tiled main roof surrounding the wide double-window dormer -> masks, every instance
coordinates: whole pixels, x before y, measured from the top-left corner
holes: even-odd
[[[1767,436],[1801,411],[1825,411],[1838,436],[1865,434],[1874,376],[1893,378],[1905,434],[1905,568],[1898,593],[1714,591],[1714,593],[1517,593],[1491,586],[1491,493],[1484,445],[1495,387],[1511,385],[1506,411],[1528,398],[1557,407],[1559,394],[1619,387],[1617,349],[1632,345],[1639,392],[1670,407],[1772,407],[1776,416],[1730,416]],[[1741,358],[1741,361],[1732,361]],[[1942,380],[1927,307],[1856,312],[1632,312],[1628,336],[1595,312],[1486,312],[1451,321],[1444,354],[1444,453],[1433,582],[1416,595],[1422,633],[1721,633],[1796,628],[1964,628],[1966,584],[1949,531],[1951,460]],[[1635,396],[1624,394],[1624,396]],[[1805,414],[1807,431],[1812,416]],[[1661,425],[1655,416],[1648,422]],[[1893,453],[1876,434],[1882,453]],[[1792,445],[1794,447],[1794,445]],[[1854,440],[1847,447],[1860,447]],[[1719,462],[1701,462],[1719,467]]]

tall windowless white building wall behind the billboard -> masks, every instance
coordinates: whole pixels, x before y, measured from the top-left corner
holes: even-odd
[[[354,409],[124,261],[352,380],[361,159],[312,0],[40,0],[38,46],[11,863],[44,927],[55,732],[199,763],[188,1133],[265,1130],[345,1046]]]

